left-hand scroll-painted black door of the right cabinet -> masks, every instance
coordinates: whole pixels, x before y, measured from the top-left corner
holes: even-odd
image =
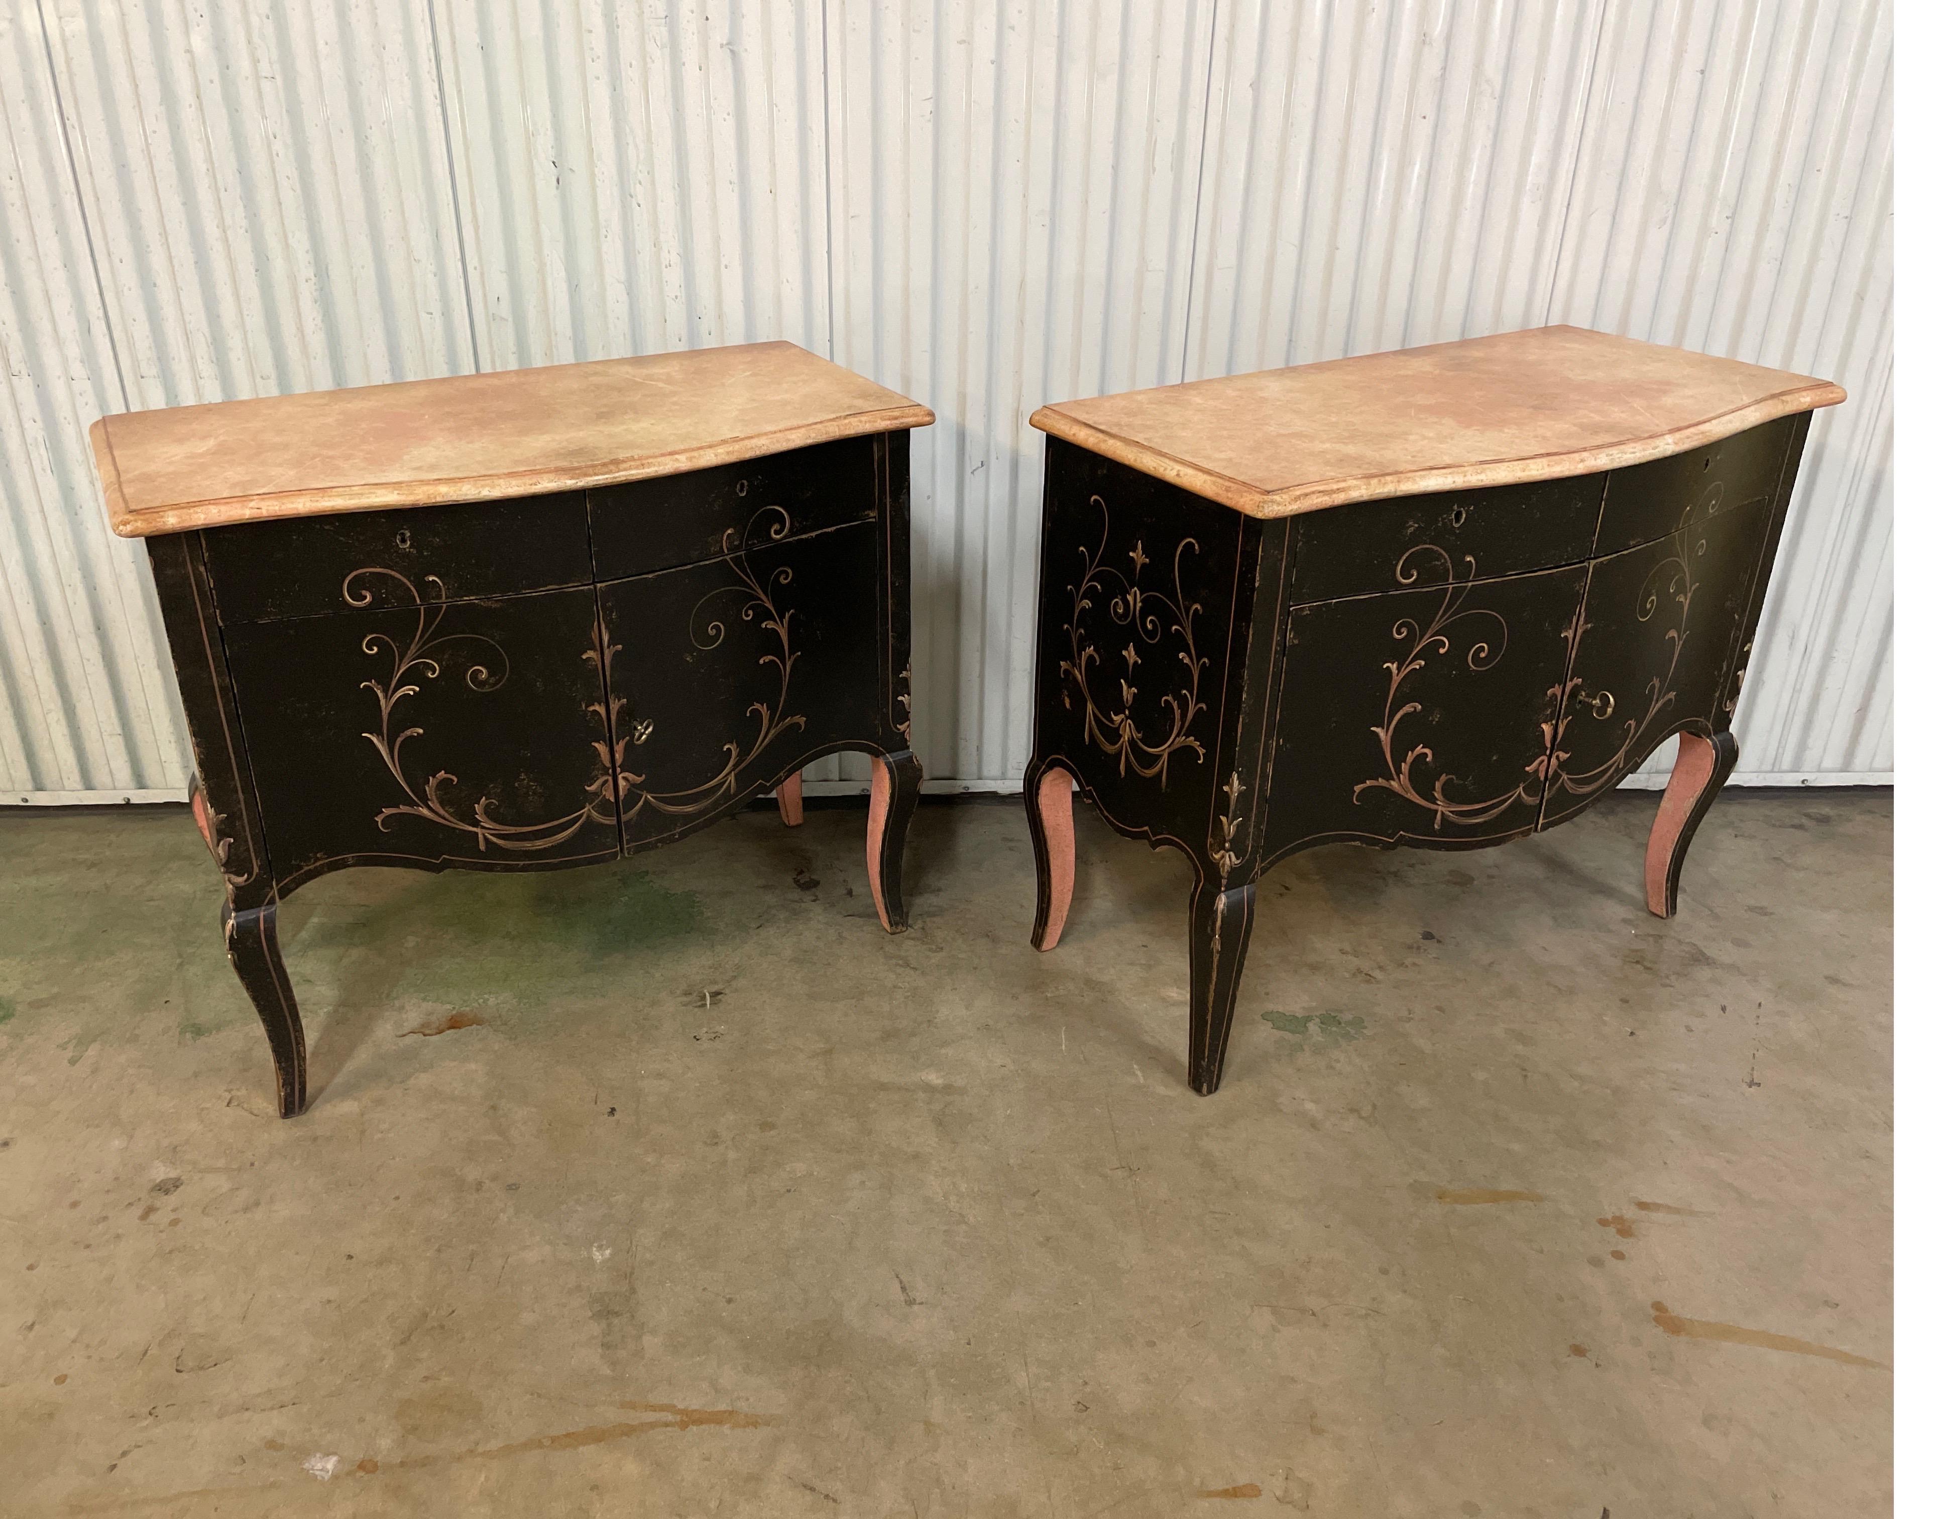
[[[1268,852],[1530,832],[1586,576],[1474,580],[1472,561],[1423,545],[1396,566],[1415,590],[1293,607]]]

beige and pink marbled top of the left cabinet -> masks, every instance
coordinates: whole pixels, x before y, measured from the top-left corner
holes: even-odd
[[[894,390],[793,343],[510,369],[103,417],[122,537],[675,475],[927,427]]]

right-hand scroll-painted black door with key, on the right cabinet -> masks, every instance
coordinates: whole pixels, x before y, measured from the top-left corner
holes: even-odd
[[[1543,826],[1615,786],[1679,724],[1724,722],[1770,510],[1768,501],[1720,510],[1594,561]]]

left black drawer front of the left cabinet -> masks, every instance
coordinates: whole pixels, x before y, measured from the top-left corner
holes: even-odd
[[[206,530],[202,543],[225,623],[407,607],[421,596],[516,596],[593,578],[582,491],[242,522]],[[355,584],[345,584],[351,576]]]

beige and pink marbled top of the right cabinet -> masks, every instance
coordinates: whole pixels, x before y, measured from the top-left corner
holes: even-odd
[[[1584,328],[1043,405],[1033,427],[1251,516],[1586,475],[1836,405],[1830,380]]]

